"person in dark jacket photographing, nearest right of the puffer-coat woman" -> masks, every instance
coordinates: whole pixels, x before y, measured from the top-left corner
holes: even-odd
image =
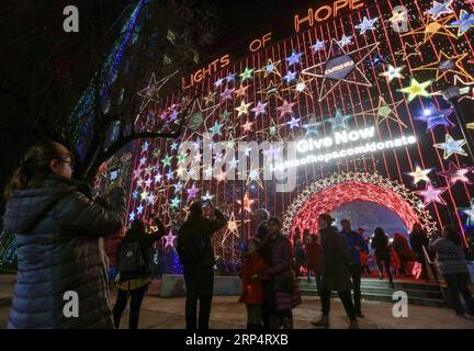
[[[128,297],[131,297],[128,329],[138,328],[142,302],[145,296],[145,292],[151,282],[151,248],[153,245],[157,240],[161,239],[166,234],[166,229],[161,220],[155,218],[154,222],[158,227],[158,230],[151,234],[146,234],[144,223],[139,219],[134,220],[119,247],[119,292],[113,309],[114,324],[115,328],[117,329],[120,327],[120,320],[126,307]],[[133,244],[138,245],[138,253],[142,254],[143,265],[137,270],[129,271],[125,269],[124,260],[127,256],[129,256],[127,250],[132,250],[134,247]]]

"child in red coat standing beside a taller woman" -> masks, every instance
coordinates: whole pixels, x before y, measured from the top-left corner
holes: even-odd
[[[247,244],[247,251],[242,257],[240,276],[242,293],[239,302],[247,307],[247,329],[262,327],[261,305],[263,303],[263,287],[259,279],[260,273],[268,268],[267,262],[257,252],[260,246],[258,238],[251,238]]]

